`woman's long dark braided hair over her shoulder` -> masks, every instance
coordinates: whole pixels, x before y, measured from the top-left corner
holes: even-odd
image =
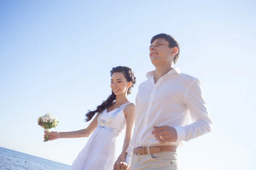
[[[113,67],[112,70],[110,71],[110,75],[112,76],[113,73],[116,73],[116,72],[124,74],[127,82],[132,82],[131,87],[129,87],[127,91],[127,94],[131,94],[131,88],[133,88],[134,85],[136,84],[136,77],[134,77],[134,72],[132,71],[132,69],[126,66]],[[90,121],[95,115],[95,113],[101,113],[107,107],[111,106],[115,100],[116,100],[116,95],[112,91],[112,94],[108,96],[108,98],[105,101],[103,101],[101,105],[97,106],[95,111],[88,111],[86,113],[85,121],[86,122]]]

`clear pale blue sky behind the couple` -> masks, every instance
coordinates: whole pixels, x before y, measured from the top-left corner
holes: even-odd
[[[180,43],[175,67],[201,80],[214,122],[178,150],[180,169],[253,169],[255,8],[252,0],[1,1],[0,146],[72,164],[88,139],[42,142],[38,116],[58,117],[57,131],[86,128],[84,114],[111,93],[118,65],[134,70],[134,102],[154,69],[151,37],[167,33]]]

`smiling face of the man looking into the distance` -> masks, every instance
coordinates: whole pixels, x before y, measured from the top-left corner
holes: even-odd
[[[171,64],[175,57],[173,48],[169,48],[169,42],[163,38],[154,40],[149,51],[149,57],[155,67]]]

